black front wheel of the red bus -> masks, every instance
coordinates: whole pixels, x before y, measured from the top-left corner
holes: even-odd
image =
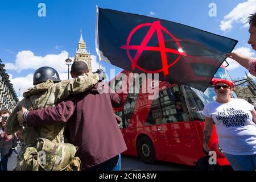
[[[148,137],[141,137],[137,143],[139,158],[146,164],[155,163],[155,148]]]

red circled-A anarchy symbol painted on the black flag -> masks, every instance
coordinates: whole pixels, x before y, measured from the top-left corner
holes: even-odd
[[[144,37],[144,39],[142,40],[141,45],[139,46],[130,46],[130,40],[131,40],[131,36],[134,35],[134,33],[139,30],[142,27],[145,26],[150,26],[150,29],[148,30],[146,36]],[[147,46],[147,43],[150,41],[152,35],[154,34],[154,32],[156,31],[156,35],[158,36],[158,42],[159,42],[159,47],[152,47],[152,46]],[[126,49],[127,51],[127,55],[131,61],[131,69],[135,69],[136,67],[138,69],[140,69],[141,71],[145,72],[145,73],[159,73],[159,72],[163,72],[164,76],[167,76],[169,74],[168,68],[170,68],[172,65],[174,65],[179,59],[180,56],[187,56],[185,53],[183,52],[179,52],[176,49],[171,49],[171,48],[166,48],[166,45],[164,43],[164,38],[163,38],[163,32],[165,32],[166,34],[170,35],[172,37],[172,39],[174,39],[174,41],[177,43],[177,46],[179,47],[179,49],[181,50],[181,46],[179,41],[175,38],[174,35],[172,35],[170,32],[168,32],[168,30],[166,30],[166,28],[164,28],[161,24],[160,24],[160,20],[157,20],[153,23],[143,23],[143,24],[139,24],[137,27],[135,27],[131,32],[130,35],[127,38],[127,42],[125,46],[122,46],[122,49]],[[129,50],[138,50],[133,57],[131,57]],[[161,54],[161,58],[162,58],[162,65],[163,68],[162,69],[158,69],[156,71],[148,71],[146,69],[143,69],[142,67],[140,67],[139,65],[137,65],[137,62],[139,60],[139,57],[141,57],[141,54],[143,51],[160,51]],[[175,53],[177,55],[179,55],[179,57],[177,57],[177,59],[171,63],[170,65],[168,65],[167,62],[167,52],[171,52],[171,53]]]

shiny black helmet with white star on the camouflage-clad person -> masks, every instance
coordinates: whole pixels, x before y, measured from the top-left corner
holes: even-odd
[[[60,82],[59,73],[51,67],[41,67],[36,69],[33,77],[33,84],[37,85],[46,80],[52,80],[53,82]]]

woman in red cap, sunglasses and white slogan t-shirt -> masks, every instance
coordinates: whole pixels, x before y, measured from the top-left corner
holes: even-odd
[[[256,168],[256,111],[249,102],[232,98],[233,82],[213,81],[217,94],[215,101],[204,107],[204,150],[208,147],[215,123],[218,142],[229,163],[236,171],[254,171]]]

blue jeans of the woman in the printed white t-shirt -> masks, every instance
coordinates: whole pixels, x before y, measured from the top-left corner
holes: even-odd
[[[255,155],[231,155],[225,153],[234,171],[254,171],[256,169]]]

